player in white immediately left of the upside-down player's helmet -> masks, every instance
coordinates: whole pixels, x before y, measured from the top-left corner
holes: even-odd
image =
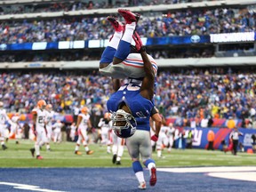
[[[111,123],[110,113],[105,113],[103,118],[100,118],[98,126],[100,127],[101,144],[107,145],[107,153],[111,153]]]

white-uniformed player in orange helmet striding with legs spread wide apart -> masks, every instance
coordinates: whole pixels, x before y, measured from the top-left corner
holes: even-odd
[[[78,140],[76,141],[75,154],[82,155],[80,151],[78,151],[81,142],[83,142],[84,150],[87,155],[91,155],[93,153],[92,150],[88,148],[88,135],[87,129],[92,128],[90,115],[88,113],[88,108],[84,107],[81,109],[81,113],[77,117],[76,127],[78,129]]]

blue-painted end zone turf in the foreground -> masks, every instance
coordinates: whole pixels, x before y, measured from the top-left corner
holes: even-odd
[[[173,172],[157,172],[157,183],[152,188],[148,184],[148,171],[145,170],[144,173],[147,192],[244,192],[255,191],[256,188],[256,182],[212,178],[205,173]],[[132,168],[2,168],[0,169],[0,182],[36,185],[40,188],[72,192],[141,191],[137,188],[138,181]],[[24,192],[28,190],[0,185],[0,191]]]

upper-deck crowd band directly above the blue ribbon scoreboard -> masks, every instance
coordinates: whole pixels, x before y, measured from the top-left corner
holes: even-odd
[[[143,13],[136,30],[142,37],[249,32],[255,30],[255,17],[252,10],[232,8]],[[112,34],[110,23],[100,16],[4,20],[0,24],[0,44],[108,39]]]

